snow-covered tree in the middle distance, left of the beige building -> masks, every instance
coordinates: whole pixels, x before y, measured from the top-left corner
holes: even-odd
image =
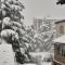
[[[51,51],[53,30],[51,28],[51,21],[46,20],[39,29],[39,34],[35,34],[36,43],[34,44],[35,51]]]

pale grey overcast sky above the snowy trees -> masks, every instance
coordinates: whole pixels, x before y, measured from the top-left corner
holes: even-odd
[[[31,25],[34,17],[65,18],[65,5],[56,5],[57,0],[24,0],[25,24]]]

